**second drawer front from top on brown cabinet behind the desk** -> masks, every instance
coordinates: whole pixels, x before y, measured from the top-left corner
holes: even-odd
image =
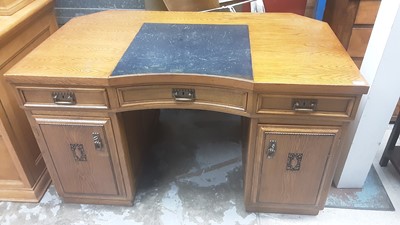
[[[353,28],[347,52],[352,57],[364,57],[372,28]]]

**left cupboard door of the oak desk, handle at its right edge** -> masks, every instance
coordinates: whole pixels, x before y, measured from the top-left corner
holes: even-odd
[[[55,183],[60,195],[90,198],[121,195],[109,119],[36,118],[36,121],[47,145],[52,165],[49,169],[53,168],[52,178],[58,181]],[[111,134],[110,139],[107,134]]]

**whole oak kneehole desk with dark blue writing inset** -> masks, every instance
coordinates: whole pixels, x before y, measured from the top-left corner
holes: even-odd
[[[66,202],[132,204],[157,110],[198,109],[243,118],[247,210],[304,214],[368,90],[329,26],[293,14],[96,13],[6,79]]]

